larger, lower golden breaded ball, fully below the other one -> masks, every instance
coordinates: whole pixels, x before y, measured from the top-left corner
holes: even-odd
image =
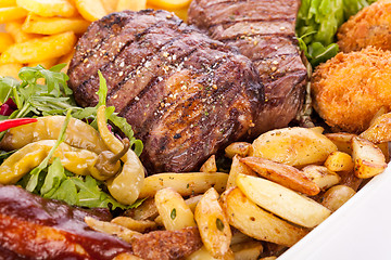
[[[335,129],[360,133],[375,114],[391,108],[391,52],[368,47],[339,53],[316,67],[314,108]]]

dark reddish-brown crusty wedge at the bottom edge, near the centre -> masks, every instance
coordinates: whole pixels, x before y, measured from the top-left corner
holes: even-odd
[[[131,243],[134,253],[146,260],[184,259],[202,247],[197,227],[179,231],[154,231]]]

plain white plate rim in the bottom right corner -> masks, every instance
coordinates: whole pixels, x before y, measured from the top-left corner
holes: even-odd
[[[278,260],[390,260],[391,164]]]

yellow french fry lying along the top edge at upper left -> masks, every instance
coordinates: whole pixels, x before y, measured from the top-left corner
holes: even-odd
[[[66,0],[16,0],[16,3],[20,8],[45,17],[71,17],[76,13],[75,8]]]

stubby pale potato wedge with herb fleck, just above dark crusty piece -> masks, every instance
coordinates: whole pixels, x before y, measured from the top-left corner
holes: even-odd
[[[194,216],[185,199],[173,188],[163,188],[156,192],[155,204],[159,214],[166,230],[180,230],[195,226]]]

